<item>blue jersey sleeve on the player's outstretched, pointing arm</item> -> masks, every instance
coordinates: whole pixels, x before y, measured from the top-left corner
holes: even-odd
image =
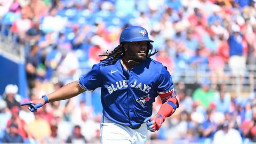
[[[102,85],[100,64],[93,65],[92,69],[78,79],[78,84],[82,89],[87,91],[94,91]]]

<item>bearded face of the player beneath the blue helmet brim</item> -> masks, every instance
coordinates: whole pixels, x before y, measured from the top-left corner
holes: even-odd
[[[147,59],[147,41],[128,43],[128,54],[134,61],[145,61]]]

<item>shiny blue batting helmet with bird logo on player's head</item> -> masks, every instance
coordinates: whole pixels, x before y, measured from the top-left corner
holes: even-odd
[[[130,26],[125,28],[122,31],[122,34],[119,39],[119,43],[139,41],[154,42],[148,38],[148,31],[145,28],[139,26]]]

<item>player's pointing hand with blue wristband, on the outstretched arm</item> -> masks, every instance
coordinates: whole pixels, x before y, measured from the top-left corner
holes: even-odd
[[[32,100],[29,102],[21,103],[21,106],[28,106],[31,112],[37,111],[37,108],[43,107],[46,103],[49,103],[49,99],[46,95],[41,99]]]

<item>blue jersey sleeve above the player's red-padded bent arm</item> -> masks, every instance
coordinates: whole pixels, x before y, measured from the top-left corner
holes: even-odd
[[[157,81],[158,94],[166,94],[173,91],[172,77],[165,66],[162,67],[161,74],[158,76]]]

